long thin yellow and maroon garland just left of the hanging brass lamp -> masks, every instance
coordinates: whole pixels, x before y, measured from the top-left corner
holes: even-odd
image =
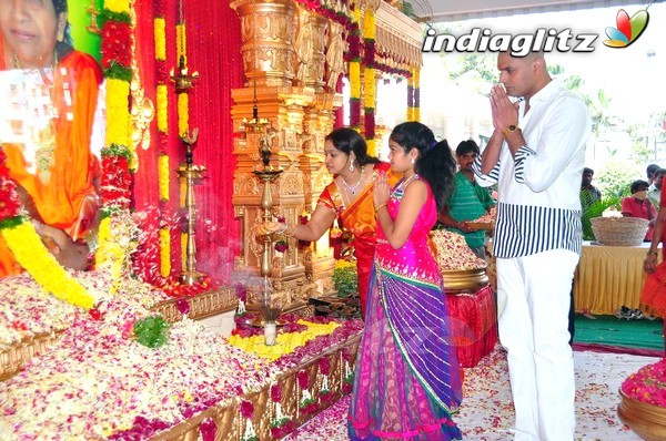
[[[164,222],[164,214],[169,206],[169,177],[171,167],[169,164],[169,154],[167,153],[169,94],[167,88],[167,24],[164,20],[163,0],[155,0],[154,10],[155,59],[158,65],[158,90],[155,95],[159,140],[158,185],[160,195],[160,275],[162,277],[169,277],[171,274],[171,229]]]

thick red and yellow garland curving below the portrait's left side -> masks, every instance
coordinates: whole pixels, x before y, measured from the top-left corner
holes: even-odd
[[[17,261],[46,290],[59,299],[90,309],[97,299],[70,276],[49,253],[23,215],[17,184],[10,178],[7,155],[0,147],[0,234]]]

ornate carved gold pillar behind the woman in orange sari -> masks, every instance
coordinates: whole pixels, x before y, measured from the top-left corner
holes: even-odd
[[[287,223],[297,224],[302,214],[312,213],[331,181],[323,165],[324,136],[333,126],[333,102],[340,106],[341,101],[334,100],[334,93],[324,93],[326,19],[296,8],[291,1],[243,0],[232,1],[231,7],[241,18],[248,79],[245,88],[232,91],[235,104],[231,110],[234,130],[245,134],[234,139],[238,166],[233,196],[243,230],[243,254],[236,259],[235,274],[236,279],[243,279],[259,276],[264,248],[255,235],[264,214],[262,188],[253,175],[261,135],[245,133],[243,119],[252,117],[256,103],[259,116],[270,121],[274,132],[271,164],[283,171],[266,184],[273,218],[283,216]],[[305,306],[307,298],[322,287],[331,289],[335,261],[332,250],[321,244],[315,249],[314,245],[303,247],[290,238],[284,254],[272,253],[271,284],[274,295],[282,296],[285,310],[290,305],[292,309]]]

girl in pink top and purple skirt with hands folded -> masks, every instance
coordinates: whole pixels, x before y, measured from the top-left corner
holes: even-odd
[[[428,233],[452,188],[446,141],[417,122],[395,126],[391,167],[373,193],[379,221],[365,329],[349,413],[351,440],[458,440],[452,413],[462,399],[442,274]]]

